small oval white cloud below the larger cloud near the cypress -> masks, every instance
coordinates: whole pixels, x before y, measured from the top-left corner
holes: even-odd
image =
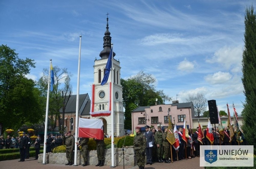
[[[232,75],[228,72],[217,72],[217,73],[205,76],[206,82],[209,82],[211,85],[226,83],[231,78],[232,78]]]

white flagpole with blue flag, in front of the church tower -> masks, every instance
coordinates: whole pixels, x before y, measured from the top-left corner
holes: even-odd
[[[111,43],[112,53],[111,53],[111,167],[115,167],[114,163],[114,74],[113,74],[113,43]]]

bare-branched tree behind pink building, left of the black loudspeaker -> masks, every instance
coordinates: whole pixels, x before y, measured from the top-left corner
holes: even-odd
[[[186,99],[187,102],[192,102],[194,106],[195,116],[200,117],[204,111],[206,111],[207,107],[207,99],[205,98],[205,94],[197,93],[188,94],[188,98]]]

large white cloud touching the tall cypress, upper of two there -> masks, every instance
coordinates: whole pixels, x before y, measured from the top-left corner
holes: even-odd
[[[224,46],[216,51],[211,59],[207,59],[207,63],[218,63],[229,69],[232,65],[241,67],[242,47]],[[241,71],[241,69],[233,69],[233,71]]]

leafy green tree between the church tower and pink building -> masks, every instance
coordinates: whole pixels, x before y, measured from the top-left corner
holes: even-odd
[[[148,73],[140,71],[137,75],[127,80],[121,79],[123,86],[123,106],[124,126],[126,129],[132,129],[131,113],[138,106],[164,104],[166,100],[170,101],[171,97],[163,93],[163,90],[157,91],[154,83],[156,79]]]

